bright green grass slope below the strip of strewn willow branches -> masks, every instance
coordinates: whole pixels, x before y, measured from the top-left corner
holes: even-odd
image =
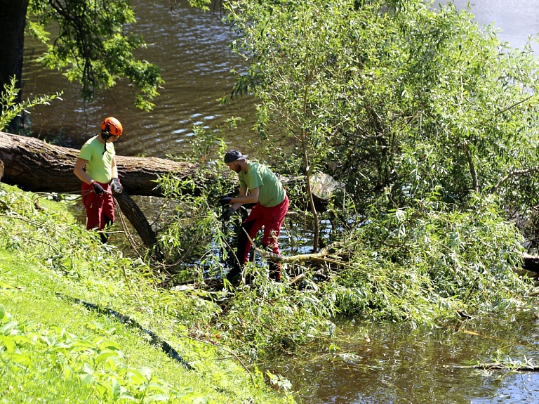
[[[1,188],[5,190],[6,186],[2,184]],[[13,191],[18,192],[15,189]],[[62,209],[52,207],[52,204],[47,202],[45,205],[46,209]],[[0,217],[0,221],[2,220],[4,218]],[[130,276],[133,277],[132,274]],[[117,296],[114,290],[118,285],[115,282],[107,285],[109,281],[106,278],[99,281],[100,299],[106,301],[107,306],[116,310],[125,308],[124,313],[132,315],[133,307],[140,304],[140,301],[131,301],[129,306],[130,298],[125,294],[118,301],[114,301]],[[140,283],[143,282],[145,280],[141,279]],[[131,396],[138,394],[141,397],[144,395],[141,393],[142,389],[146,389],[146,399],[137,400],[141,403],[149,402],[149,396],[155,400],[178,403],[293,401],[290,396],[284,397],[268,389],[262,383],[260,374],[254,374],[253,379],[251,374],[228,354],[223,355],[222,351],[196,341],[173,339],[173,333],[161,334],[167,320],[164,315],[155,316],[159,318],[160,326],[153,331],[163,335],[196,370],[185,370],[180,363],[168,358],[159,348],[148,344],[145,334],[140,330],[88,311],[72,299],[58,295],[60,293],[87,300],[92,297],[97,299],[94,292],[86,289],[87,285],[88,282],[77,282],[58,271],[52,271],[29,256],[0,250],[0,304],[13,316],[11,320],[17,324],[13,330],[4,327],[4,332],[0,327],[1,403],[112,402],[119,398],[119,384],[123,387],[121,391]],[[103,290],[109,290],[110,293],[103,297]],[[102,301],[93,302],[102,304]],[[8,318],[4,318],[3,322],[6,326]],[[150,320],[144,321],[144,326],[152,328],[151,316]],[[73,335],[65,337],[61,330]],[[32,343],[16,339],[15,334],[32,339]],[[6,342],[10,338],[18,341],[15,350],[12,347],[11,352]],[[108,353],[109,348],[105,348],[106,352],[101,352],[112,357],[98,366],[95,363],[100,351],[95,346],[88,351],[80,348],[84,351],[81,354],[79,348],[58,348],[45,342],[53,339],[62,339],[65,342],[66,338],[69,341],[92,341],[91,344],[94,345],[104,344],[100,341],[110,341],[110,344],[106,343],[107,346],[114,346],[115,352],[119,348],[121,354]],[[82,363],[95,365],[91,379],[86,377],[89,371],[84,370]],[[140,371],[142,379],[133,376],[136,370]],[[151,377],[153,379],[149,380]],[[112,381],[113,379],[119,381],[119,384]],[[154,384],[153,387],[151,383]],[[119,401],[128,402],[122,399]]]

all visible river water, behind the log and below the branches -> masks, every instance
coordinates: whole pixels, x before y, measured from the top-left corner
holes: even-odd
[[[193,125],[221,130],[231,147],[248,151],[255,141],[250,127],[253,100],[240,99],[222,106],[233,80],[232,67],[241,68],[229,53],[232,35],[217,13],[202,13],[180,1],[173,14],[168,1],[131,1],[138,24],[130,30],[143,34],[148,48],[142,56],[163,68],[166,82],[152,112],[132,106],[131,89],[120,83],[99,93],[95,102],[82,103],[76,85],[55,72],[46,72],[31,58],[24,70],[25,98],[64,91],[63,102],[32,111],[39,136],[55,138],[74,148],[98,131],[109,115],[124,124],[126,136],[115,144],[121,155],[166,157],[189,152]],[[465,8],[466,0],[455,1]],[[500,28],[499,37],[521,48],[539,32],[539,8],[532,0],[477,0],[472,10],[479,25]],[[27,41],[27,55],[39,46]],[[536,47],[534,47],[536,48]],[[246,117],[234,131],[229,117]],[[508,313],[503,318],[472,319],[409,330],[406,325],[340,325],[339,349],[314,347],[304,357],[281,356],[266,368],[282,374],[303,404],[387,403],[539,403],[539,376],[535,372],[507,372],[463,367],[494,358],[539,362],[538,319],[533,313]]]

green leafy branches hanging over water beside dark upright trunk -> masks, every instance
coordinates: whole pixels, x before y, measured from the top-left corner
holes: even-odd
[[[96,90],[110,89],[126,78],[133,84],[135,105],[152,110],[152,99],[159,96],[164,81],[157,65],[134,56],[145,42],[125,30],[136,23],[128,1],[33,0],[28,10],[36,18],[29,31],[48,45],[39,60],[48,69],[62,70],[69,81],[79,82],[84,100],[93,100]],[[53,43],[46,32],[51,21],[59,27]]]

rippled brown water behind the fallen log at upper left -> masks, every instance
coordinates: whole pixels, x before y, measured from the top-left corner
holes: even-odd
[[[174,2],[175,3],[175,2]],[[218,13],[204,13],[179,1],[170,12],[168,1],[131,1],[138,23],[128,27],[142,34],[148,47],[141,56],[162,68],[165,80],[161,96],[152,112],[133,107],[133,95],[127,82],[112,90],[98,93],[93,103],[77,98],[76,84],[70,84],[57,72],[42,70],[27,58],[24,71],[25,97],[64,91],[64,102],[36,107],[31,119],[34,131],[60,136],[64,145],[79,148],[98,131],[101,119],[112,115],[120,119],[125,137],[115,147],[120,155],[165,157],[189,151],[194,125],[208,130],[225,129],[229,141],[249,136],[252,122],[237,131],[227,129],[225,119],[242,116],[250,119],[253,100],[240,98],[224,107],[218,98],[228,96],[234,80],[232,67],[240,69],[228,44],[232,34],[220,22]],[[27,54],[41,49],[27,39]],[[239,148],[239,145],[236,146]]]

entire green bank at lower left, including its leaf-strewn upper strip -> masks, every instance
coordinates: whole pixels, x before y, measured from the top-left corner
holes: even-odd
[[[0,184],[0,214],[1,403],[294,402],[210,334],[211,299],[159,290],[62,204]],[[128,315],[193,369],[74,299]]]

